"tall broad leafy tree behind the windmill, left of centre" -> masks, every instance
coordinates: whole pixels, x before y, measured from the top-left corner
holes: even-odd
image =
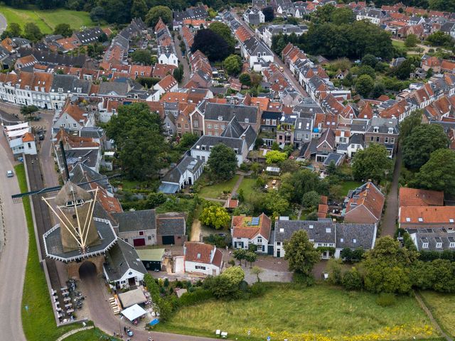
[[[164,166],[162,120],[146,104],[120,106],[107,124],[107,136],[117,144],[122,171],[129,178],[145,180]]]

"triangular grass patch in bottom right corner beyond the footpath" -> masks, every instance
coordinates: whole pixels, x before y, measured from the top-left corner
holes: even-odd
[[[441,328],[455,337],[455,294],[434,291],[422,291],[421,294]]]

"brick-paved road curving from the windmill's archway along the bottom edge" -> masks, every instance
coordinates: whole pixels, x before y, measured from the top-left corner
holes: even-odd
[[[148,332],[143,329],[133,328],[130,323],[125,323],[112,313],[112,309],[107,301],[107,291],[101,278],[92,276],[83,279],[83,291],[87,296],[85,300],[90,310],[90,318],[95,325],[109,335],[114,332],[123,332],[124,326],[134,331],[133,340],[146,341],[151,337],[154,341],[213,341],[209,337],[196,337],[188,335],[168,334],[165,332]]]

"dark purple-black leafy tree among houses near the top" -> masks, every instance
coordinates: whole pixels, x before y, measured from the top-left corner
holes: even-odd
[[[197,50],[205,54],[211,62],[225,60],[234,52],[223,37],[208,29],[200,29],[194,36],[191,52],[195,53]]]

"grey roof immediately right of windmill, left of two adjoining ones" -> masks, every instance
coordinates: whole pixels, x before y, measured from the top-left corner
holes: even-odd
[[[156,229],[155,210],[112,213],[112,217],[119,222],[119,232]]]

